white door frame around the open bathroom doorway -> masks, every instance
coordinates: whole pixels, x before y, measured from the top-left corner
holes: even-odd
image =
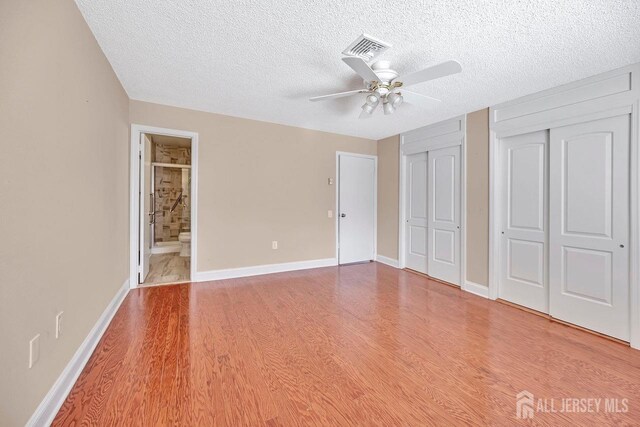
[[[129,286],[137,288],[138,284],[138,251],[140,234],[140,135],[176,136],[191,139],[191,280],[195,280],[198,260],[198,133],[155,126],[131,125],[130,158],[129,158]]]

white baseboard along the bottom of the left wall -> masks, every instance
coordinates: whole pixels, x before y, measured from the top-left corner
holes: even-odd
[[[87,338],[80,344],[76,353],[27,422],[27,426],[51,425],[128,292],[129,279],[120,287],[116,296],[111,300],[89,332],[89,335],[87,335]]]

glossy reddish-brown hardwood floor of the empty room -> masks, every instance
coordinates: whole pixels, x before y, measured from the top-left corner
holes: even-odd
[[[371,263],[131,291],[54,425],[518,423],[640,423],[640,351]]]

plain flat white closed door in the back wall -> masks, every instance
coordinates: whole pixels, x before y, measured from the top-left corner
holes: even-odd
[[[375,253],[375,160],[340,154],[338,262],[371,261]]]

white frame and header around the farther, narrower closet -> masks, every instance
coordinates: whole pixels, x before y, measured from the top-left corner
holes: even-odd
[[[407,155],[455,145],[460,146],[460,287],[467,286],[467,116],[458,116],[400,135],[400,189],[398,192],[398,268],[406,267],[406,169]],[[475,292],[474,292],[475,293]]]

